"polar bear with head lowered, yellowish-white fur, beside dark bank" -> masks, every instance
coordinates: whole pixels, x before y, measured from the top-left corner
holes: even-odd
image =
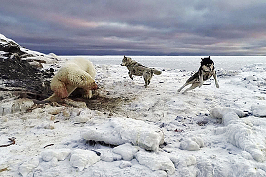
[[[91,98],[92,90],[98,89],[95,75],[91,61],[82,57],[67,61],[51,80],[50,86],[54,94],[44,101],[63,102],[77,87],[85,90],[84,98]]]

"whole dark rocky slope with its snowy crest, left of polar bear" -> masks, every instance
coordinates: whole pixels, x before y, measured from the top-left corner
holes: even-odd
[[[56,55],[27,50],[0,34],[0,91],[32,93],[27,98],[34,95],[33,99],[40,100],[51,95],[54,69],[42,70],[45,63],[57,63]]]

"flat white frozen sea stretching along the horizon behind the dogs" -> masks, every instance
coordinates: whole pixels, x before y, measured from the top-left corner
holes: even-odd
[[[73,58],[77,56],[61,56]],[[119,65],[123,56],[82,56],[94,64]],[[198,70],[201,58],[208,56],[127,56],[149,67],[181,69],[186,71]],[[266,62],[266,56],[211,56],[216,69],[240,70],[245,65]]]

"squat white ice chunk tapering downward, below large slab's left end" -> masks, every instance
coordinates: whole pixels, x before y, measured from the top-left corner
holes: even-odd
[[[80,171],[100,161],[100,157],[90,150],[76,149],[70,157],[70,165],[78,167]]]

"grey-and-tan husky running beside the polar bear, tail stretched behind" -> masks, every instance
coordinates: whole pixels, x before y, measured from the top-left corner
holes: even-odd
[[[146,66],[143,66],[142,64],[136,62],[135,60],[132,60],[129,57],[124,56],[121,66],[126,66],[129,70],[128,75],[133,80],[132,75],[136,76],[142,76],[145,81],[145,87],[148,86],[150,83],[150,79],[153,76],[153,74],[160,75],[162,71],[158,71],[154,68],[149,68]]]

